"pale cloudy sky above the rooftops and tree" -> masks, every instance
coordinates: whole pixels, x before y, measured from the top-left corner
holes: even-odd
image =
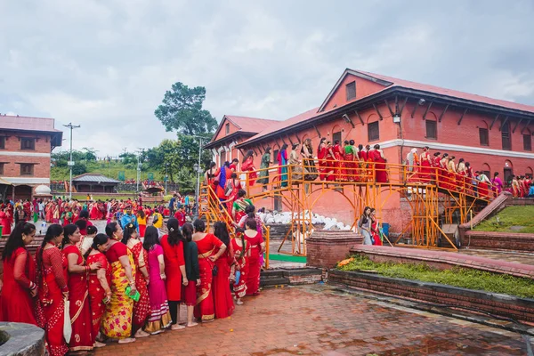
[[[99,156],[175,137],[154,109],[176,81],[205,86],[218,120],[312,109],[345,68],[534,105],[532,0],[0,0],[0,13],[0,113],[82,125],[74,147]]]

